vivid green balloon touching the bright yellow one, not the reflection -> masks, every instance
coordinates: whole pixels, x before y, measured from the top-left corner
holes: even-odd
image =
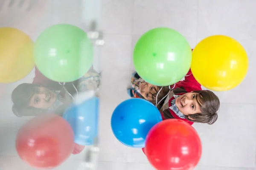
[[[137,41],[133,62],[146,82],[173,85],[189,71],[192,51],[186,38],[171,28],[154,28]]]

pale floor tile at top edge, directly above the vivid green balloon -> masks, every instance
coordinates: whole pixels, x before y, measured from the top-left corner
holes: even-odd
[[[134,0],[132,34],[169,27],[187,37],[196,37],[197,0]]]

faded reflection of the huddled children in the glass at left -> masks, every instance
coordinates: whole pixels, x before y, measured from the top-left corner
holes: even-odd
[[[20,84],[12,92],[13,112],[16,116],[46,112],[62,115],[79,91],[97,90],[99,80],[99,74],[91,68],[81,79],[63,86],[44,77],[36,68],[32,84]]]

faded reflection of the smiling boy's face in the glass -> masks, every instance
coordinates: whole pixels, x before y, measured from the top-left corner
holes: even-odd
[[[29,106],[40,109],[48,109],[56,101],[56,94],[48,88],[37,87],[30,99]]]

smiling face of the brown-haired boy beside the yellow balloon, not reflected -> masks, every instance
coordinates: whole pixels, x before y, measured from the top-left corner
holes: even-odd
[[[201,113],[200,105],[196,100],[198,93],[185,93],[175,99],[175,105],[181,113],[188,116],[190,114]]]

